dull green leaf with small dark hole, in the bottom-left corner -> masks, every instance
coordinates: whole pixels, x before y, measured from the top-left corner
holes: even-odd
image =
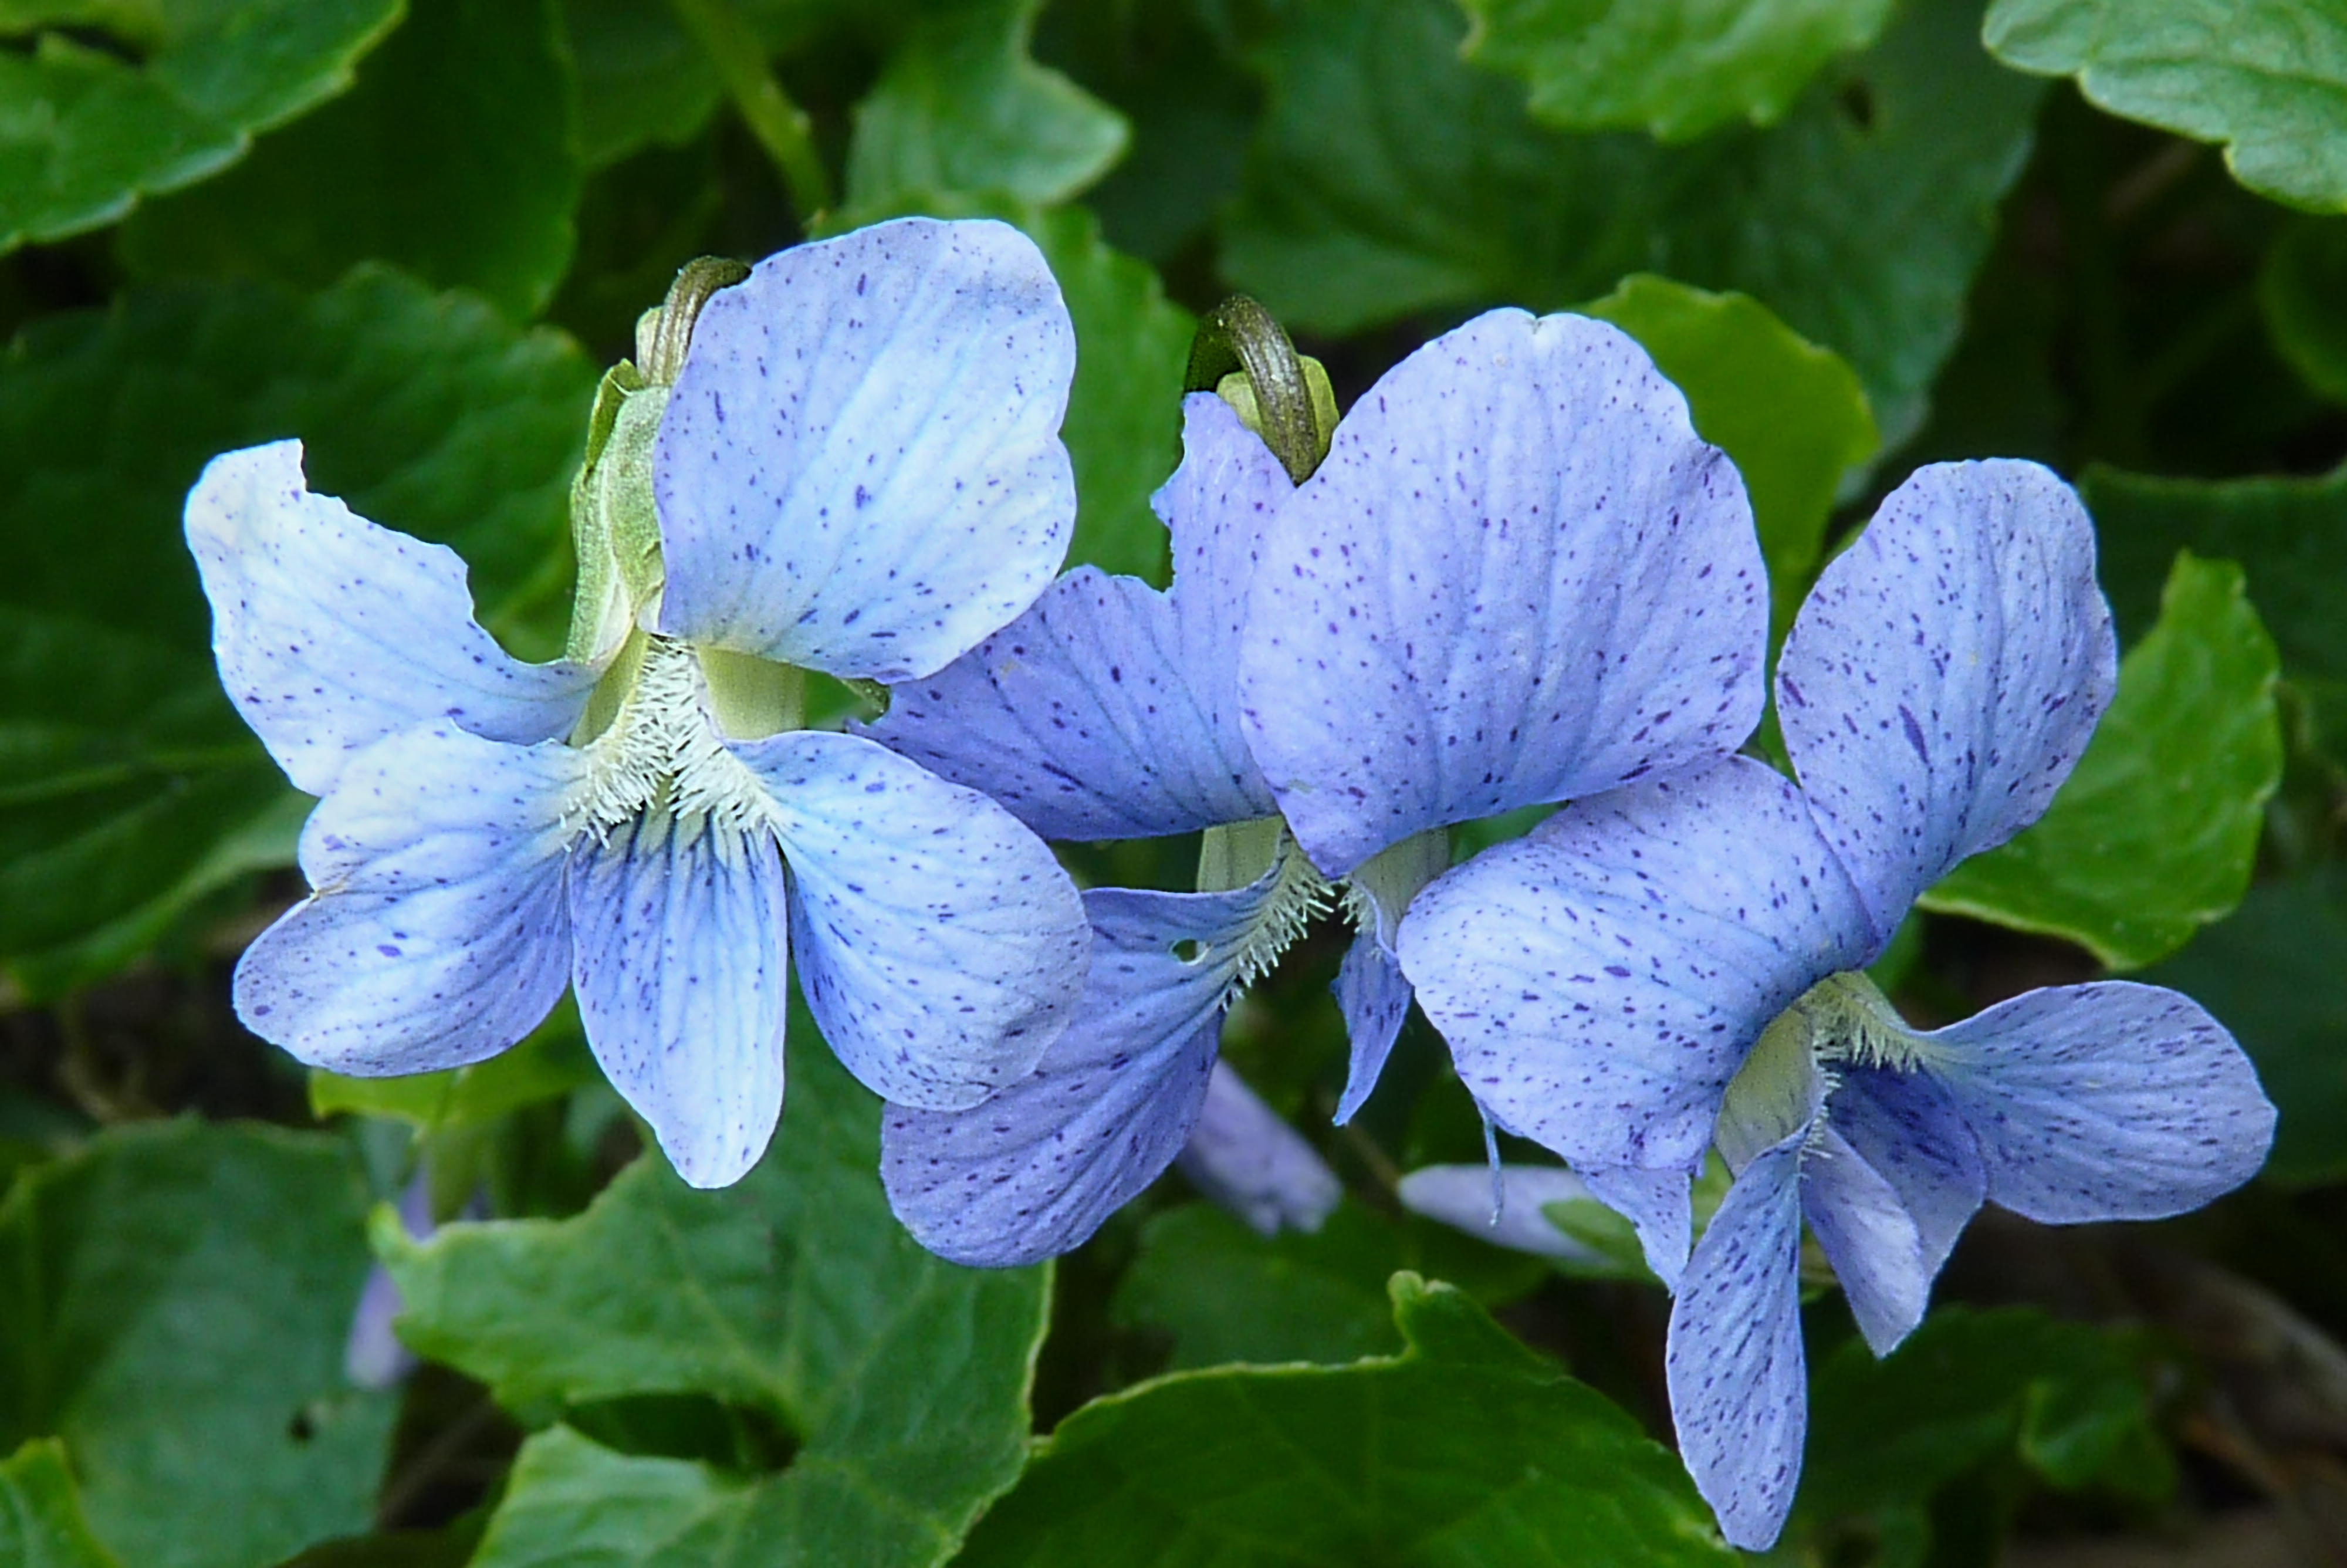
[[[0,1207],[0,1444],[63,1439],[138,1568],[251,1568],[364,1530],[394,1401],[343,1383],[366,1181],[338,1138],[153,1122]]]

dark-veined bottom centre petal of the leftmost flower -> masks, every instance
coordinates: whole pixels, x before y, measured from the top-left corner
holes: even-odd
[[[695,1188],[739,1181],[782,1117],[789,920],[765,833],[648,812],[570,859],[587,1045]]]

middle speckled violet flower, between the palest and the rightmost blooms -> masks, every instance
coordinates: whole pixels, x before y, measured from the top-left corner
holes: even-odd
[[[1612,326],[1495,310],[1436,338],[1303,486],[1310,460],[1223,399],[1183,415],[1155,500],[1174,589],[1068,573],[871,730],[1044,838],[1206,831],[1202,892],[1084,894],[1080,1021],[1030,1075],[887,1117],[899,1218],[965,1263],[1066,1251],[1155,1181],[1223,1009],[1338,899],[1350,1117],[1408,1012],[1394,932],[1448,824],[1716,761],[1760,714],[1744,486]]]

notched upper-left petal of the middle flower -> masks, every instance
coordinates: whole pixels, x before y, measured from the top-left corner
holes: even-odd
[[[1223,399],[1183,404],[1157,493],[1174,589],[1082,566],[866,732],[1007,805],[1044,838],[1150,838],[1270,817],[1239,735],[1239,620],[1286,469]]]

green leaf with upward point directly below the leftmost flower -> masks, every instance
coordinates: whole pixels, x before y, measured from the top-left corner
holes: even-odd
[[[697,1192],[638,1160],[570,1221],[448,1225],[422,1246],[378,1223],[401,1338],[507,1408],[702,1394],[798,1441],[751,1481],[540,1437],[481,1566],[744,1561],[718,1547],[735,1526],[697,1533],[709,1509],[763,1521],[760,1568],[932,1563],[1019,1474],[1049,1272],[925,1253],[880,1190],[878,1103],[812,1045],[805,1012],[793,1040],[775,1148],[735,1188]],[[582,1488],[645,1502],[580,1507]]]

